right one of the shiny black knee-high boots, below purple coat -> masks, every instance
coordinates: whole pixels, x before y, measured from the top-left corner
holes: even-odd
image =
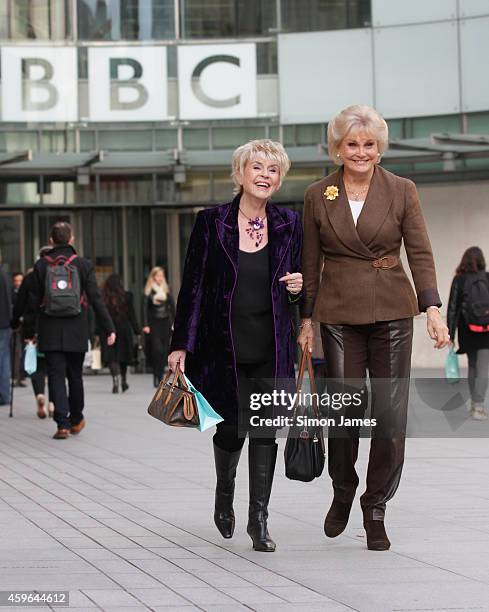
[[[277,448],[277,444],[248,446],[250,507],[247,531],[253,540],[254,550],[261,552],[275,550],[275,542],[268,533],[267,519]]]

